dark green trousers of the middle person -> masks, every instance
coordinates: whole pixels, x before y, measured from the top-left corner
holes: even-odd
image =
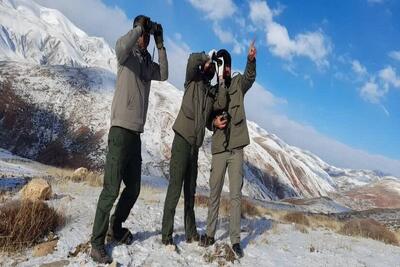
[[[184,222],[186,238],[197,233],[194,215],[194,195],[196,193],[197,158],[199,150],[190,145],[182,136],[175,134],[170,161],[170,179],[165,197],[162,220],[162,240],[172,239],[176,206],[184,192]]]

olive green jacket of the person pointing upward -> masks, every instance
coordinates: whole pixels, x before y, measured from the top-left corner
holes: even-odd
[[[213,129],[212,119],[209,119],[208,128],[213,129],[211,152],[212,154],[231,151],[235,148],[245,147],[250,144],[247,129],[246,114],[244,110],[244,95],[256,79],[256,60],[247,61],[244,74],[232,78],[228,88],[228,105],[226,111],[229,116],[225,129]],[[213,114],[218,114],[213,112]]]

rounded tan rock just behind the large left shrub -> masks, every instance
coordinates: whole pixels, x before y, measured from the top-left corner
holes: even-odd
[[[21,195],[24,200],[48,200],[52,195],[51,185],[43,178],[35,178],[21,189]]]

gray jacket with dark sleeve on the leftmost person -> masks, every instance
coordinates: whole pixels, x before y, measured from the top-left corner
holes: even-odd
[[[149,52],[137,46],[142,31],[136,26],[117,41],[118,73],[111,106],[111,126],[140,133],[146,123],[151,81],[168,79],[165,48],[158,49],[159,64],[153,62]]]

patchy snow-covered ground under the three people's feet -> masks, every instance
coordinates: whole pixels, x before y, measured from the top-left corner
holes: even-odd
[[[131,245],[108,246],[108,252],[122,266],[217,266],[204,257],[214,247],[205,249],[184,241],[182,203],[175,217],[180,253],[161,244],[166,185],[165,179],[143,177],[142,192],[125,224],[135,240]],[[55,182],[53,189],[56,196],[49,203],[68,216],[66,226],[57,233],[56,251],[38,258],[31,256],[31,250],[13,257],[2,255],[4,266],[40,266],[60,260],[67,260],[69,266],[97,266],[85,252],[76,257],[68,257],[68,253],[89,241],[101,189],[72,182]],[[196,208],[200,232],[205,229],[206,212],[205,208]],[[216,238],[217,243],[229,244],[226,218],[221,218]],[[241,239],[245,257],[236,262],[238,266],[400,266],[399,247],[323,229],[302,233],[294,225],[278,224],[268,216],[243,219]]]

